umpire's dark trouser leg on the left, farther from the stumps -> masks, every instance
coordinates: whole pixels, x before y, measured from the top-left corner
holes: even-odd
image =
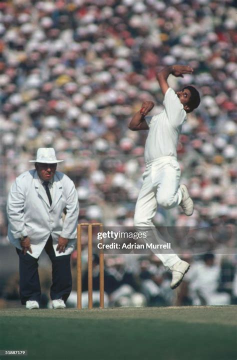
[[[28,300],[40,300],[40,283],[38,277],[38,258],[23,254],[16,248],[19,256],[19,295],[22,305]]]

